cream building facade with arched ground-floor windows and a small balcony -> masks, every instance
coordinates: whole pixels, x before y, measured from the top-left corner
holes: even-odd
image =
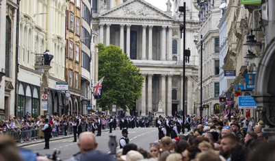
[[[14,115],[24,116],[29,112],[36,117],[64,112],[64,92],[55,88],[56,82],[65,82],[65,23],[64,0],[20,2],[18,92]],[[37,66],[38,55],[46,49],[53,55],[51,64]],[[42,94],[48,95],[44,108]]]

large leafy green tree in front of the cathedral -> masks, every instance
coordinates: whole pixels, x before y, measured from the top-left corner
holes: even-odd
[[[123,110],[132,109],[135,100],[142,95],[144,77],[120,47],[105,47],[99,43],[99,79],[103,76],[102,97],[97,99],[98,105],[103,110],[111,110],[113,104]]]

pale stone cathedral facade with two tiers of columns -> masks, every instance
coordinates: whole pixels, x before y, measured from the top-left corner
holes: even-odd
[[[142,97],[136,101],[135,109],[130,114],[157,112],[159,100],[166,115],[179,112],[183,104],[185,114],[194,113],[198,53],[195,52],[194,43],[189,40],[193,40],[198,29],[198,18],[192,16],[197,11],[192,2],[187,3],[186,47],[190,48],[192,56],[186,65],[187,102],[183,103],[183,39],[179,31],[183,18],[179,18],[178,12],[183,1],[173,4],[176,5],[173,16],[170,3],[167,5],[168,10],[164,12],[143,0],[93,3],[92,8],[97,10],[93,12],[92,23],[94,30],[99,32],[99,42],[120,47],[146,79]]]

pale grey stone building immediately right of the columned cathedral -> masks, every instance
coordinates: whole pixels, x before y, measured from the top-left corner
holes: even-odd
[[[199,73],[202,72],[202,106],[208,105],[209,107],[203,108],[202,116],[217,112],[214,110],[219,105],[220,36],[218,23],[220,3],[221,1],[215,1],[215,3],[206,1],[200,6],[198,14],[200,28],[196,38],[200,40],[200,35],[202,35],[203,40],[202,51],[200,51],[201,42],[196,45],[199,55],[202,56],[202,70],[199,69]],[[200,86],[198,90],[200,91]],[[200,97],[200,94],[198,96]],[[200,99],[198,104],[200,104]]]

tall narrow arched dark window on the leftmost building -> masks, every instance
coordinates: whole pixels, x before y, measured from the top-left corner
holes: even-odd
[[[5,18],[5,77],[10,77],[10,18]]]

